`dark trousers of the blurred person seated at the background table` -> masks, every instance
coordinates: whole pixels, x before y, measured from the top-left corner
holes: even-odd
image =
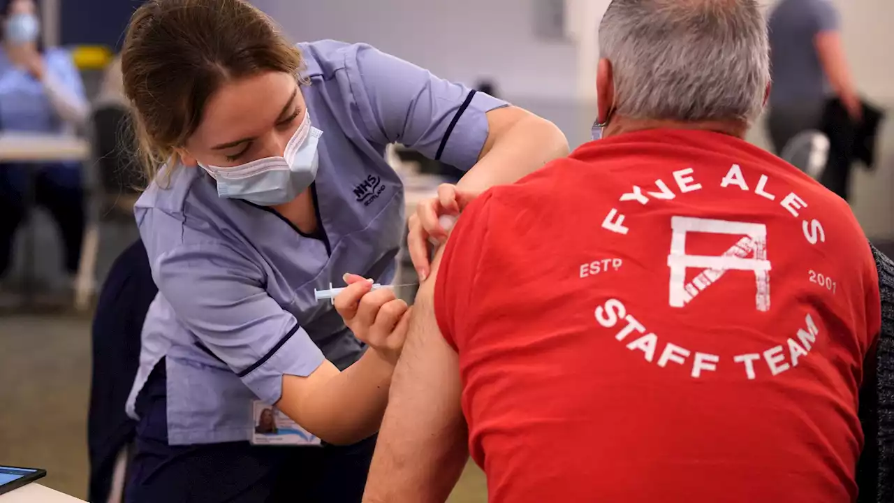
[[[51,164],[0,165],[0,277],[12,260],[13,238],[34,205],[49,210],[62,234],[64,268],[71,274],[80,265],[84,238],[84,190],[80,166]]]

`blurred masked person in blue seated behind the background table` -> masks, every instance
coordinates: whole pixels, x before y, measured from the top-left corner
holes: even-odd
[[[34,0],[0,1],[0,130],[62,134],[87,121],[89,105],[72,56],[44,49]],[[49,210],[62,234],[64,269],[77,273],[84,234],[80,162],[0,164],[0,278],[12,259],[13,236],[30,203]]]

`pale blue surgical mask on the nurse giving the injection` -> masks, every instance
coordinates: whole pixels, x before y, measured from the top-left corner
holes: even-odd
[[[305,113],[282,158],[257,159],[232,167],[201,163],[199,166],[217,181],[217,195],[222,198],[247,200],[260,206],[284,204],[314,182],[316,147],[322,134],[310,126],[310,116]]]

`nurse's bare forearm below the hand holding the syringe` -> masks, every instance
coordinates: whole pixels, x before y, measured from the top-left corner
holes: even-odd
[[[350,445],[379,431],[393,372],[373,350],[342,372],[327,361],[306,378],[284,376],[276,406],[320,439]]]

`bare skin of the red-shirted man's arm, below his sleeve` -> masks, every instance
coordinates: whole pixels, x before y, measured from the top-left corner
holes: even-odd
[[[468,460],[459,357],[434,318],[436,276],[435,269],[413,305],[369,470],[366,503],[443,502]]]

